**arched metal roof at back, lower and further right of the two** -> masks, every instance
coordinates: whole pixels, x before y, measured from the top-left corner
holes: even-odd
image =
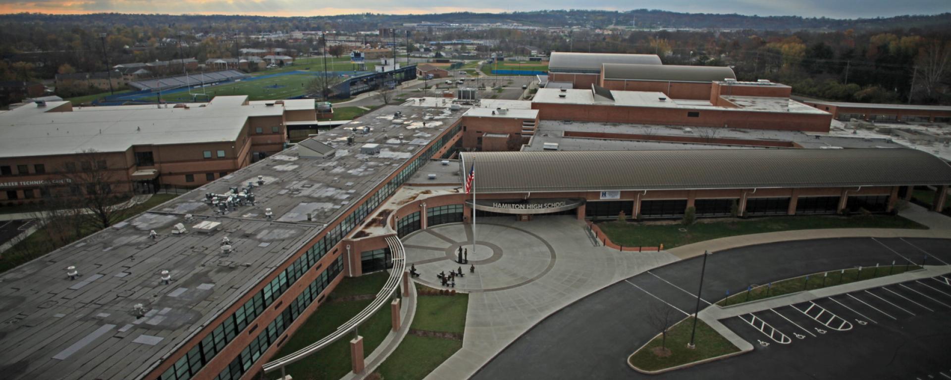
[[[724,66],[675,66],[604,64],[604,79],[641,81],[713,82],[736,79],[732,68]]]

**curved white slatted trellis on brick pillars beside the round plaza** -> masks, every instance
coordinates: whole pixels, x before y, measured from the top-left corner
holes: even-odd
[[[386,244],[390,246],[390,255],[393,258],[393,269],[390,271],[390,276],[386,279],[386,283],[383,284],[383,289],[379,290],[373,302],[363,309],[363,311],[359,312],[359,314],[354,315],[353,318],[350,318],[346,323],[340,325],[334,333],[324,336],[323,339],[297,352],[265,363],[263,366],[264,372],[281,370],[285,366],[301,360],[314,352],[319,352],[347,333],[357,329],[360,324],[369,319],[373,314],[376,314],[383,305],[386,305],[390,301],[390,296],[399,289],[399,281],[402,279],[403,272],[406,270],[406,251],[403,249],[403,243],[399,241],[399,238],[396,236],[386,237]]]

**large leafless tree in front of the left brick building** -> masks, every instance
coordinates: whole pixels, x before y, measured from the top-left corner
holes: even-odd
[[[60,171],[61,180],[68,183],[75,197],[71,208],[83,210],[83,214],[91,216],[101,228],[107,228],[122,211],[119,203],[131,195],[114,188],[119,178],[109,168],[105,154],[88,149],[77,157],[78,160],[69,162]]]

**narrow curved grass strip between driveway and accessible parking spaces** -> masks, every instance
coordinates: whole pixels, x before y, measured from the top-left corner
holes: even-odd
[[[719,302],[717,302],[717,305],[735,305],[738,303],[755,301],[757,299],[768,298],[771,296],[788,295],[790,293],[802,292],[805,290],[811,291],[813,289],[847,284],[849,282],[855,282],[869,278],[898,275],[904,273],[905,271],[914,271],[918,269],[922,269],[922,267],[918,265],[911,265],[907,267],[904,265],[895,265],[894,267],[888,265],[880,268],[865,267],[862,269],[862,273],[859,273],[858,268],[851,268],[812,274],[808,276],[808,279],[806,279],[806,276],[799,276],[776,281],[767,285],[760,285],[748,292],[730,295],[728,298],[721,299]]]

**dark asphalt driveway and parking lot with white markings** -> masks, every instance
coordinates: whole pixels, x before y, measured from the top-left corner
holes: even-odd
[[[726,291],[741,292],[748,285],[802,276],[810,273],[912,262],[927,264],[951,262],[951,239],[933,238],[830,238],[777,242],[731,249],[708,257],[702,298],[709,302],[724,297]],[[619,281],[552,314],[476,372],[476,379],[508,378],[642,378],[648,375],[631,370],[626,359],[631,352],[647,342],[655,333],[645,323],[647,307],[662,299],[685,314],[691,314],[699,285],[702,257],[672,263]],[[937,283],[934,286],[939,286]],[[951,291],[951,285],[947,285]],[[895,288],[895,293],[905,291]],[[897,305],[911,311],[919,306],[899,299],[889,291],[876,295],[891,297]],[[912,293],[907,293],[911,295]],[[951,294],[951,292],[949,292]],[[935,295],[940,297],[944,295]],[[892,308],[896,318],[878,315],[876,323],[835,338],[815,339],[788,345],[772,344],[757,347],[754,352],[727,360],[671,371],[653,377],[688,378],[881,378],[902,376],[914,378],[927,373],[941,376],[951,373],[949,360],[939,360],[951,352],[946,339],[951,334],[948,323],[951,307],[931,305],[930,312],[901,312],[874,295],[856,295],[870,305]],[[918,299],[922,303],[922,298]],[[940,299],[940,298],[936,298]],[[859,303],[849,298],[853,309]],[[899,303],[901,302],[901,303]],[[928,301],[932,302],[932,301]],[[944,300],[951,304],[951,299]],[[822,300],[823,304],[832,304]],[[706,303],[702,304],[702,307]],[[844,308],[838,308],[845,314]],[[832,308],[833,306],[829,306]],[[859,313],[878,313],[865,307]],[[830,309],[831,310],[831,309]],[[780,313],[793,315],[801,323],[805,316],[791,309]],[[901,315],[899,315],[901,314]],[[874,316],[867,315],[872,318]],[[774,315],[764,316],[777,325],[787,323]],[[855,318],[850,314],[850,317]],[[862,318],[861,316],[859,318]],[[806,317],[807,319],[807,317]],[[751,343],[763,339],[739,318],[724,323]],[[856,322],[857,323],[857,322]],[[794,327],[780,330],[792,335]],[[806,335],[802,331],[799,333]],[[819,333],[815,333],[819,335]],[[830,335],[831,336],[831,335]],[[824,336],[825,337],[825,336]],[[797,339],[798,338],[793,338]],[[948,367],[943,368],[942,367]]]

